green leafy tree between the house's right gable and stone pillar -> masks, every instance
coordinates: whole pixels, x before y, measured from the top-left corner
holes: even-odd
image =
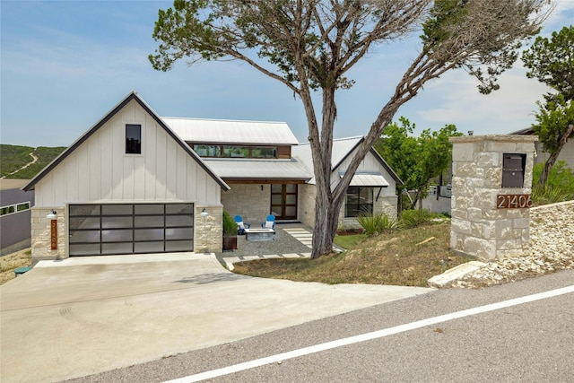
[[[452,158],[452,144],[448,137],[462,135],[457,126],[446,125],[439,131],[425,129],[413,136],[415,125],[407,118],[387,126],[375,149],[396,171],[407,189],[419,190],[418,197],[428,193],[429,182],[448,169]]]

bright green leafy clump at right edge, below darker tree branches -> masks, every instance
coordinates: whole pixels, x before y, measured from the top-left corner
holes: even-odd
[[[549,153],[559,152],[560,139],[566,133],[568,126],[574,124],[574,100],[566,100],[558,94],[543,106],[540,102],[538,113],[535,114],[537,124],[532,127]],[[570,135],[572,137],[574,135]]]

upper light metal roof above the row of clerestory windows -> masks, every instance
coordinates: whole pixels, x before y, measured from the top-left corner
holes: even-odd
[[[284,122],[201,118],[161,118],[188,143],[297,145]]]

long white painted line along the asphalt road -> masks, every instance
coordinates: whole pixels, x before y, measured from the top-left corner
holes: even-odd
[[[256,359],[255,361],[245,361],[243,363],[235,364],[233,366],[224,367],[222,369],[211,370],[201,372],[196,375],[190,375],[185,378],[173,379],[164,383],[191,383],[197,382],[204,379],[213,379],[217,377],[222,377],[223,375],[229,375],[234,372],[239,372],[243,370],[254,369],[256,367],[265,366],[265,364],[277,363],[279,361],[286,361],[293,358],[298,358],[300,356],[309,355],[311,353],[320,353],[326,350],[331,350],[337,347],[343,347],[348,344],[357,344],[361,342],[370,341],[372,339],[382,338],[388,335],[395,335],[403,333],[405,331],[414,330],[424,326],[436,325],[438,323],[447,322],[448,320],[465,318],[472,315],[483,314],[485,312],[494,311],[497,309],[505,309],[512,306],[517,306],[520,304],[532,302],[535,300],[545,300],[548,298],[556,297],[563,294],[568,294],[574,292],[574,285],[563,287],[561,289],[551,290],[549,292],[540,292],[533,295],[526,295],[525,297],[515,298],[513,300],[503,300],[498,303],[491,303],[489,305],[476,307],[473,309],[464,309],[461,311],[453,312],[450,314],[439,315],[438,317],[432,317],[422,320],[417,320],[416,322],[407,323],[401,326],[395,326],[386,328],[384,330],[378,330],[367,334],[355,335],[344,339],[338,339],[331,342],[326,342],[324,344],[316,344],[309,347],[301,348],[299,350],[293,350],[287,353],[278,353],[276,355],[271,355],[265,358]]]

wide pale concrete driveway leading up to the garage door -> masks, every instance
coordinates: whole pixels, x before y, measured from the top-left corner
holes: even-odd
[[[0,286],[0,380],[82,377],[430,291],[246,277],[210,254],[42,261]]]

